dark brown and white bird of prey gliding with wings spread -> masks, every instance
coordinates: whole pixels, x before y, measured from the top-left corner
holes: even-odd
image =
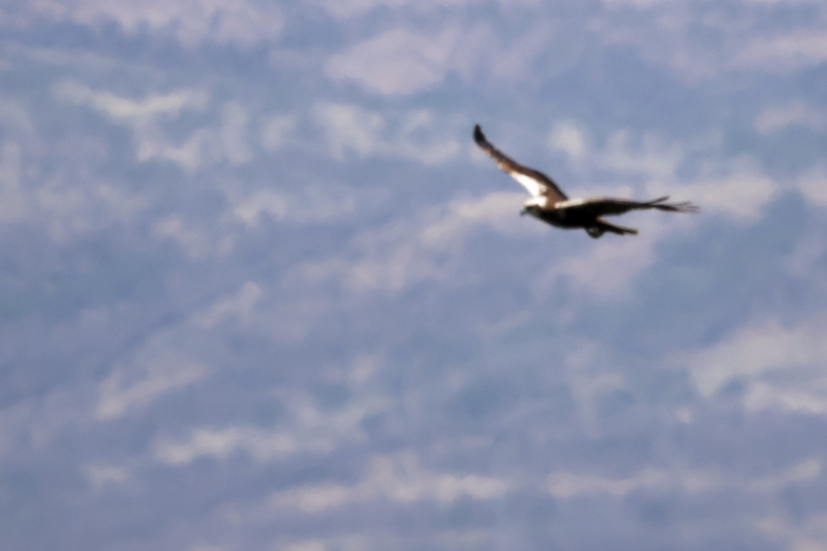
[[[521,215],[529,214],[558,228],[583,228],[597,239],[606,231],[614,234],[637,235],[638,230],[617,226],[603,219],[603,216],[623,214],[624,212],[655,208],[669,212],[697,212],[698,207],[691,202],[666,202],[668,196],[653,201],[631,201],[612,197],[590,197],[588,199],[569,199],[552,178],[542,172],[529,169],[510,159],[485,139],[480,125],[474,126],[474,141],[480,149],[494,159],[500,170],[514,178],[528,189],[532,197],[523,205]]]

